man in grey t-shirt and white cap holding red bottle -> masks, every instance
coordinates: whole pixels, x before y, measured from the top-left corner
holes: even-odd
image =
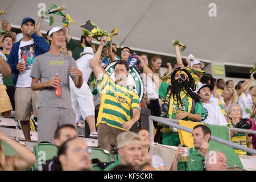
[[[82,72],[75,60],[60,52],[65,42],[66,27],[53,27],[49,31],[51,48],[49,52],[36,57],[31,71],[32,90],[40,90],[38,103],[38,142],[53,143],[55,130],[64,124],[75,123],[75,113],[71,107],[69,76],[77,88],[82,86]],[[59,74],[59,78],[55,75]],[[40,82],[39,82],[40,81]],[[55,95],[60,86],[61,96]]]

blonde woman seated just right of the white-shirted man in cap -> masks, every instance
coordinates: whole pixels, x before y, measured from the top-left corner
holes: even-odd
[[[220,101],[224,106],[225,113],[228,113],[230,106],[236,104],[238,100],[237,92],[235,89],[226,88],[221,94]]]

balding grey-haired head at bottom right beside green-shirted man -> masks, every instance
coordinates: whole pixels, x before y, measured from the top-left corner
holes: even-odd
[[[218,150],[209,151],[205,156],[205,169],[207,171],[227,171],[228,160],[225,154]]]

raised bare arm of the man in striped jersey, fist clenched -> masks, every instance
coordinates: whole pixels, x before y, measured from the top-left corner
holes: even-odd
[[[90,59],[90,66],[92,67],[93,73],[98,80],[100,80],[99,76],[103,75],[103,73],[104,73],[102,71],[102,67],[100,65],[100,57],[101,57],[102,49],[103,49],[104,45],[106,44],[107,40],[108,40],[108,37],[102,36],[101,44],[100,44],[100,46],[98,46],[98,50],[96,51],[93,59]]]

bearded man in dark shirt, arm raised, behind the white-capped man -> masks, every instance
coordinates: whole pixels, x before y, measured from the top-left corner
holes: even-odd
[[[68,28],[68,26],[67,26]],[[72,50],[72,57],[73,59],[77,60],[80,58],[80,53],[84,51],[85,47],[92,47],[92,36],[86,36],[84,34],[81,35],[80,42],[81,44],[78,44],[69,34],[66,35],[66,41],[67,41],[67,47],[71,48]],[[95,51],[95,49],[94,49]]]

